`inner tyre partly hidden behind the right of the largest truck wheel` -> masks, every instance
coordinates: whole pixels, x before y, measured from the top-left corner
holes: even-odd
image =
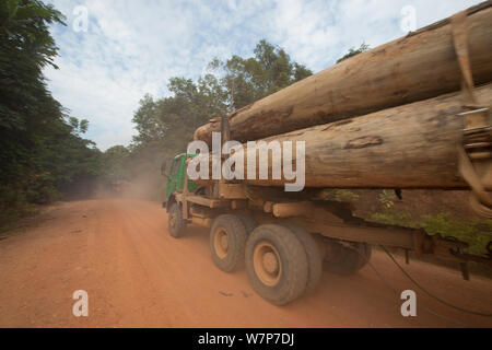
[[[309,293],[316,288],[316,285],[318,285],[319,280],[321,279],[321,253],[319,252],[318,244],[313,238],[313,236],[308,232],[306,232],[306,230],[293,225],[285,226],[295,234],[298,241],[301,241],[302,245],[304,246],[304,250],[306,252],[308,266],[306,293]]]

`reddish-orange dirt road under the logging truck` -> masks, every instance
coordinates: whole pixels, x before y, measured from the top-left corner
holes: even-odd
[[[250,288],[246,271],[212,262],[208,232],[167,234],[157,203],[90,200],[51,207],[38,222],[0,241],[0,327],[453,327],[423,307],[460,323],[492,327],[418,295],[418,316],[370,268],[278,307]],[[373,264],[399,291],[414,289],[388,258]],[[408,270],[430,290],[464,307],[492,310],[492,280],[414,261]],[[72,315],[72,293],[89,293],[89,317]]]

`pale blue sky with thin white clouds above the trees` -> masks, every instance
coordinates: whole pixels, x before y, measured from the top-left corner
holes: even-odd
[[[58,70],[48,86],[71,116],[90,121],[101,150],[128,145],[147,94],[169,95],[169,78],[197,79],[213,58],[250,57],[262,38],[314,72],[351,47],[371,47],[480,0],[47,0],[67,16],[52,25]]]

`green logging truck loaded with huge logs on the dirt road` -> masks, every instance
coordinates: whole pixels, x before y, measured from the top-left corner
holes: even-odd
[[[367,222],[323,191],[471,189],[472,207],[491,218],[491,81],[487,1],[211,119],[196,130],[196,140],[210,145],[220,131],[222,144],[239,144],[220,160],[254,160],[269,175],[279,160],[273,152],[261,159],[247,141],[278,141],[282,152],[283,141],[304,142],[305,188],[285,191],[289,178],[259,171],[253,177],[190,178],[194,160],[211,156],[188,149],[162,167],[168,232],[178,238],[188,224],[209,228],[216,267],[231,272],[245,265],[255,291],[277,305],[315,289],[323,269],[356,272],[373,246],[456,261],[468,279],[467,261],[490,264],[492,256],[467,255],[465,243],[423,230]],[[209,163],[204,167],[209,173]]]

